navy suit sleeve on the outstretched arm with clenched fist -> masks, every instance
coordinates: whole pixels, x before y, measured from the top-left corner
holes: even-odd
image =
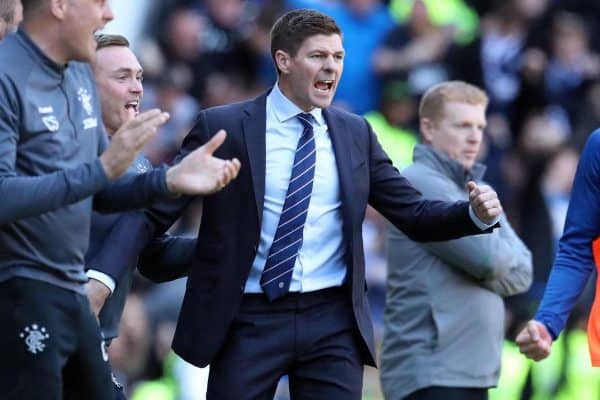
[[[469,216],[467,201],[443,202],[423,198],[392,165],[370,125],[366,121],[364,123],[368,130],[371,206],[417,242],[450,240],[482,233]]]

